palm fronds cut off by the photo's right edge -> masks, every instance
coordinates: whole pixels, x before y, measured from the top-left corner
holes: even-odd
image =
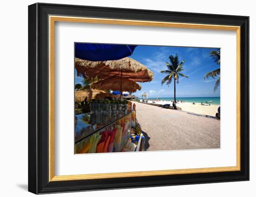
[[[214,62],[217,63],[218,65],[221,64],[221,51],[220,49],[217,49],[216,51],[211,51],[210,52],[210,57],[213,58]],[[213,71],[210,71],[208,73],[206,73],[206,75],[204,76],[204,79],[207,79],[209,77],[212,77],[215,79],[216,76],[218,76],[216,83],[214,85],[214,92],[218,89],[218,87],[220,86],[221,83],[221,69],[216,69]]]

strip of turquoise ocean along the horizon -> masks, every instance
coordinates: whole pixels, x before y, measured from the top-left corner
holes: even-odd
[[[160,97],[159,97],[160,98]],[[141,99],[141,98],[140,98]],[[156,97],[151,97],[148,99],[150,100],[156,100],[157,98]],[[173,101],[174,98],[173,97],[162,97],[160,98],[161,101]],[[181,101],[181,100],[184,100],[185,103],[186,102],[197,102],[197,103],[206,103],[206,102],[209,102],[209,101],[212,101],[211,104],[213,105],[220,105],[220,97],[176,97],[176,100],[177,101]]]

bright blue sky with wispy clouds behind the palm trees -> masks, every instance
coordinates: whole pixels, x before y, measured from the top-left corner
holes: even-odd
[[[161,81],[166,74],[162,74],[160,71],[167,69],[165,62],[168,62],[169,55],[175,56],[178,54],[180,61],[185,60],[182,73],[189,76],[189,78],[179,78],[179,83],[176,85],[176,96],[220,96],[220,88],[216,92],[213,91],[216,79],[203,79],[207,72],[219,68],[219,65],[209,57],[209,52],[215,50],[216,48],[137,46],[133,55],[129,57],[139,61],[153,71],[154,79],[151,82],[140,83],[142,89],[135,92],[134,95],[141,97],[142,92],[148,92],[148,97],[173,97],[174,84],[172,82],[169,87],[166,84],[161,85]],[[81,81],[82,78],[75,75],[75,83],[80,83]]]

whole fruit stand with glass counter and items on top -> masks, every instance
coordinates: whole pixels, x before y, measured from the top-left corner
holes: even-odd
[[[144,144],[131,102],[91,103],[90,112],[75,115],[74,138],[75,154],[143,151]]]

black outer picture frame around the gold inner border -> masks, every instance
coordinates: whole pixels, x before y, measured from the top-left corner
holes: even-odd
[[[49,182],[48,15],[241,27],[241,170]],[[36,3],[28,6],[28,191],[35,194],[249,180],[249,17]]]

